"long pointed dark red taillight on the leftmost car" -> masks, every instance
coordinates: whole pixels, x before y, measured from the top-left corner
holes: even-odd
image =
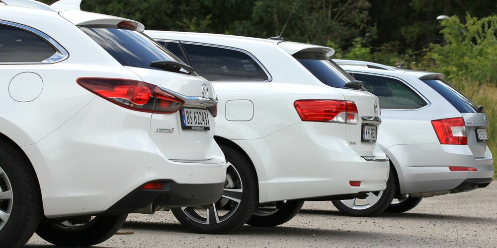
[[[131,110],[172,114],[184,104],[158,86],[137,80],[81,77],[76,81],[103,99]]]

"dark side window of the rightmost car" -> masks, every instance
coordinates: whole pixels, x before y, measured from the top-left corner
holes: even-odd
[[[397,79],[359,73],[354,73],[354,77],[379,98],[382,109],[419,109],[427,105],[421,96]]]

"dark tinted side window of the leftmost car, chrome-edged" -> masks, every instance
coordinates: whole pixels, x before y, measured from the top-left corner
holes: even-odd
[[[0,62],[42,62],[55,52],[51,45],[35,34],[0,25]]]

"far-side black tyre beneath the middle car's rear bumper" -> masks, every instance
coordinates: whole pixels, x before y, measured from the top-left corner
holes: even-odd
[[[271,207],[259,206],[247,224],[254,227],[274,227],[291,220],[304,205],[303,200],[279,201]]]

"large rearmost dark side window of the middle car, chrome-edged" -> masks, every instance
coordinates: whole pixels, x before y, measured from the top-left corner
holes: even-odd
[[[183,44],[195,71],[208,80],[237,81],[269,79],[254,59],[241,51],[204,45]]]

